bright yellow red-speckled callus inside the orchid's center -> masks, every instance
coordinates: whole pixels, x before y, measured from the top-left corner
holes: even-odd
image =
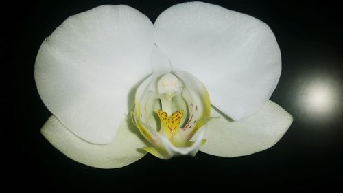
[[[157,114],[161,120],[161,129],[165,128],[163,133],[165,133],[167,137],[172,138],[180,128],[184,111],[176,111],[171,116],[168,116],[166,112],[158,110]]]

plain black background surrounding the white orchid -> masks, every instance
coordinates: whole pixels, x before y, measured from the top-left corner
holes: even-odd
[[[147,155],[124,168],[102,170],[68,159],[40,135],[40,127],[51,115],[34,83],[34,60],[45,37],[68,16],[97,5],[130,5],[154,22],[163,10],[180,2],[36,1],[3,6],[3,41],[10,47],[3,52],[3,59],[9,59],[3,66],[13,72],[3,81],[3,96],[10,93],[12,99],[10,113],[3,116],[3,183],[11,190],[58,192],[343,190],[343,20],[341,6],[329,1],[206,1],[261,19],[281,47],[283,72],[271,99],[294,116],[294,123],[268,150],[237,158],[198,152],[195,158],[169,161]],[[2,74],[2,78],[9,75]],[[331,92],[330,104],[311,109],[306,101],[314,96],[306,88],[318,82]]]

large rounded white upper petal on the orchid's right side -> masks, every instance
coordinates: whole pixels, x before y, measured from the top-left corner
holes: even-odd
[[[173,70],[204,82],[212,104],[239,120],[268,101],[281,73],[281,54],[270,27],[209,3],[165,10],[155,22],[156,45]]]

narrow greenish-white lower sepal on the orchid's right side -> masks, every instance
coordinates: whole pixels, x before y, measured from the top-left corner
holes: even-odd
[[[213,119],[207,123],[206,144],[200,151],[222,157],[250,155],[276,144],[292,124],[292,115],[272,101],[254,115],[229,121],[212,109]]]

